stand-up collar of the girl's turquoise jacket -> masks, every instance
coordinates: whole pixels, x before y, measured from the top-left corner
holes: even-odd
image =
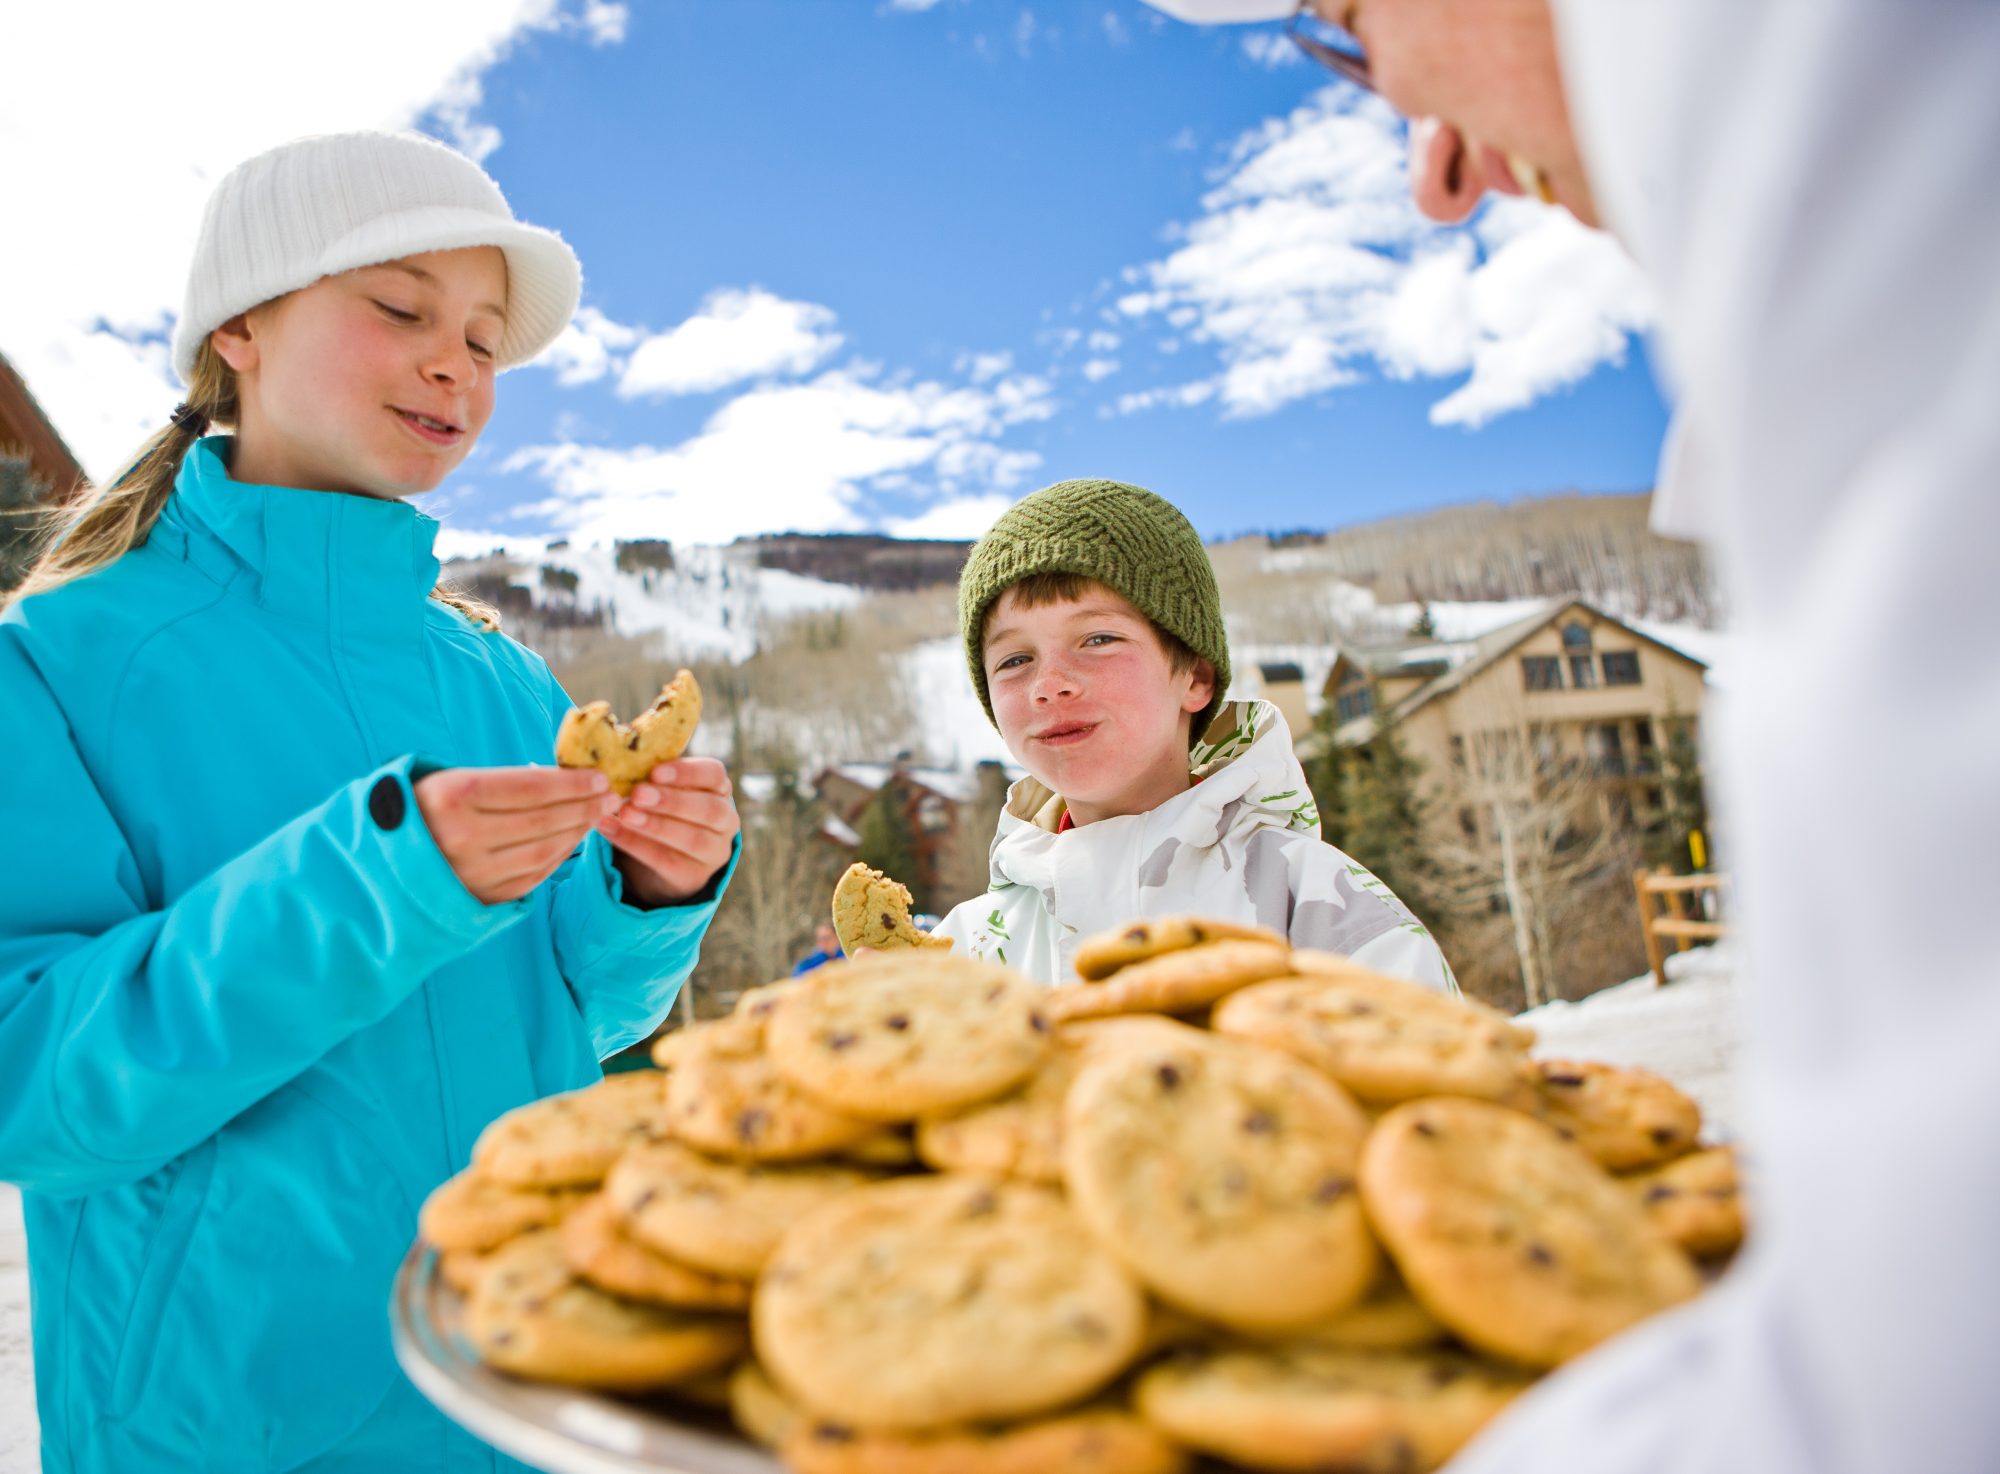
[[[248,568],[264,608],[338,614],[346,626],[404,624],[410,596],[436,586],[436,520],[408,502],[238,482],[228,448],[230,436],[208,436],[188,450],[164,516],[196,562],[220,544]]]

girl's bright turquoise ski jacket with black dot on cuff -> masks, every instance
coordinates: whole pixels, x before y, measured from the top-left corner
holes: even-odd
[[[436,522],[226,454],[0,618],[0,1180],[44,1470],[516,1468],[396,1370],[396,1264],[482,1126],[652,1032],[734,856],[642,912],[592,834],[474,900],[410,784],[546,762],[568,696],[428,598]]]

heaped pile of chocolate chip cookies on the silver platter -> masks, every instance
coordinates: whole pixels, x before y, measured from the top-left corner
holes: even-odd
[[[1076,962],[830,964],[494,1122],[422,1218],[480,1356],[802,1474],[1416,1472],[1742,1238],[1664,1080],[1248,926]]]

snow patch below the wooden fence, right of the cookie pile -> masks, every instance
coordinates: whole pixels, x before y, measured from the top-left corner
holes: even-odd
[[[1666,986],[1650,972],[1578,1002],[1532,1008],[1538,1058],[1600,1060],[1664,1074],[1702,1108],[1706,1134],[1734,1136],[1736,956],[1728,944],[1672,952]]]

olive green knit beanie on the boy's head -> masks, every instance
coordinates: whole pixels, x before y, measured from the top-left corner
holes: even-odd
[[[1222,630],[1216,568],[1178,506],[1126,482],[1056,482],[1024,496],[992,524],[958,574],[958,628],[988,722],[994,722],[994,702],[980,658],[986,612],[1012,584],[1034,574],[1094,578],[1212,664],[1216,694],[1194,714],[1190,746],[1208,730],[1230,686],[1230,640]]]

